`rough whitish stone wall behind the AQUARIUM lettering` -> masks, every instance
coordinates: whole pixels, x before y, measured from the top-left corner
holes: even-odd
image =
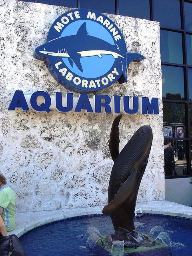
[[[104,205],[113,161],[108,142],[116,114],[8,111],[15,90],[31,95],[69,92],[32,57],[52,22],[69,8],[0,0],[0,171],[16,192],[18,211]],[[143,124],[154,139],[138,201],[164,199],[162,82],[158,22],[107,15],[120,28],[128,52],[146,56],[131,63],[128,82],[97,92],[159,98],[159,115],[123,114],[120,150]],[[78,93],[74,93],[78,96]],[[89,94],[93,96],[93,94]]]

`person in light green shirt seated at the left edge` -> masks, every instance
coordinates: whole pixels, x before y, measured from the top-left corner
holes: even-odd
[[[15,228],[16,198],[14,191],[6,182],[3,174],[0,174],[0,215],[7,231]]]

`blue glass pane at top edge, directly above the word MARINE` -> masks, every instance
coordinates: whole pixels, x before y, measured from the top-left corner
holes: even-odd
[[[111,0],[80,0],[80,8],[91,9],[97,12],[115,14],[115,1]]]

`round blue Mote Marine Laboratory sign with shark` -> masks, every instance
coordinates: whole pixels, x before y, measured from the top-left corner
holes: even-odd
[[[124,38],[108,17],[90,10],[72,10],[51,26],[46,43],[34,58],[46,62],[52,76],[76,92],[102,90],[127,81],[127,67],[144,56],[127,52]]]

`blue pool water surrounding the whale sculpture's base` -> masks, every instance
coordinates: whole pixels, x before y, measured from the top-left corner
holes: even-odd
[[[146,215],[134,222],[142,222],[137,230],[148,234],[154,226],[162,226],[172,240],[171,252],[164,250],[134,254],[136,256],[190,256],[192,255],[192,220],[170,216]],[[28,256],[108,256],[100,247],[85,247],[84,235],[90,227],[96,227],[102,235],[113,234],[109,216],[82,216],[53,222],[30,230],[20,241]],[[131,255],[131,254],[130,254]]]

